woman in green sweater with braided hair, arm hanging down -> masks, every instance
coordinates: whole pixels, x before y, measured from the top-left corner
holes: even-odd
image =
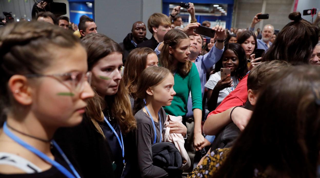
[[[192,110],[194,116],[194,147],[199,149],[204,143],[201,132],[202,96],[200,78],[196,68],[188,60],[190,54],[190,38],[180,30],[172,29],[164,35],[161,46],[160,63],[174,74],[173,89],[176,95],[170,106],[165,106],[167,114],[184,117],[187,112],[188,96],[191,91]]]

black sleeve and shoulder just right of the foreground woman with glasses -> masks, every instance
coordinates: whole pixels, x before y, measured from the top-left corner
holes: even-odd
[[[108,142],[85,115],[80,125],[58,129],[54,139],[71,163],[79,165],[82,178],[115,177]]]

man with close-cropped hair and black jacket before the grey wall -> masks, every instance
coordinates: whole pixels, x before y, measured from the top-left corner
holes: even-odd
[[[129,33],[124,38],[123,42],[119,44],[124,51],[122,58],[123,63],[127,60],[128,54],[135,49],[139,43],[148,40],[146,34],[147,27],[143,22],[138,21],[132,25],[131,33]]]

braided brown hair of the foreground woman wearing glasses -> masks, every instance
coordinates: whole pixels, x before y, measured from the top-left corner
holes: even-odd
[[[45,22],[19,22],[0,30],[0,117],[10,106],[8,81],[12,75],[43,71],[57,46],[71,48],[79,43],[71,32]],[[80,43],[79,43],[80,44]],[[1,124],[1,121],[0,121]]]

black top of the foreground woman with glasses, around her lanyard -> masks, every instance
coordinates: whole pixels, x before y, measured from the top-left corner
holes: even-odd
[[[67,162],[62,158],[61,154],[53,147],[51,149],[51,153],[54,156],[54,160],[60,163],[63,167],[68,169],[68,171],[74,175],[68,166]],[[68,156],[67,156],[68,157]],[[69,159],[69,158],[68,158]],[[69,159],[70,160],[70,159]],[[76,171],[79,173],[80,177],[84,177],[79,171],[79,167],[73,164]],[[75,175],[74,175],[75,176]],[[52,166],[50,169],[45,170],[40,173],[32,173],[32,174],[0,174],[1,178],[57,178],[57,177],[66,177],[63,173],[61,173],[56,167]]]

